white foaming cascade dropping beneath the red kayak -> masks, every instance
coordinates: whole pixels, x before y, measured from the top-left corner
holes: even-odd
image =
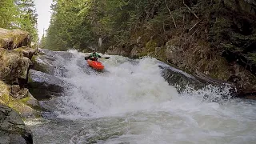
[[[71,77],[64,78],[74,87],[68,88],[68,93],[62,97],[62,108],[66,106],[64,109],[70,112],[58,113],[60,118],[125,114],[146,110],[178,97],[174,87],[162,78],[158,61],[154,58],[143,58],[134,65],[128,58],[111,56],[110,60],[102,62],[106,73],[85,74],[77,65],[83,55],[74,54],[76,57],[66,64]],[[88,66],[84,68],[90,69]]]

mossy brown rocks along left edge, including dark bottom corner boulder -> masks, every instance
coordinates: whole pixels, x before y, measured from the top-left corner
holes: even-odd
[[[38,100],[26,87],[36,53],[29,33],[0,28],[0,143],[33,143],[22,118],[41,116]]]

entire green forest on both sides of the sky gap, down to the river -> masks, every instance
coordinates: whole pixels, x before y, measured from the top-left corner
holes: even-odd
[[[50,8],[39,48],[150,56],[245,89],[256,83],[254,0],[54,0]],[[33,0],[1,1],[0,18],[38,40]]]

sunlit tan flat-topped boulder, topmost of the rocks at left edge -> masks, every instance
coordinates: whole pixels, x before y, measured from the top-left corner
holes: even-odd
[[[18,29],[6,30],[0,28],[0,48],[12,50],[22,46],[29,46],[30,43],[30,33]]]

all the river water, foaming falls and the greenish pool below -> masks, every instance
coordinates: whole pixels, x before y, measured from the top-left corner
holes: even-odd
[[[106,70],[87,66],[84,54],[57,58],[66,69],[62,97],[42,105],[45,118],[26,120],[34,143],[206,144],[256,143],[256,103],[241,99],[205,101],[228,89],[187,88],[182,93],[161,76],[154,58],[100,59]]]

